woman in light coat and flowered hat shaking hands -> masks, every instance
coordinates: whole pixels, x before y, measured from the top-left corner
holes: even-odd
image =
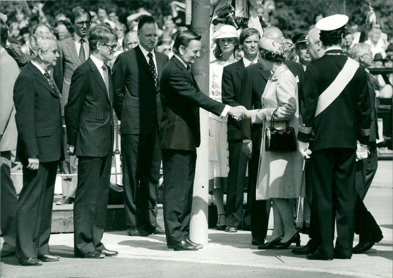
[[[265,38],[258,43],[260,62],[273,75],[262,95],[263,108],[251,110],[249,115],[253,123],[264,124],[256,200],[271,199],[274,214],[272,236],[258,249],[286,249],[293,242],[300,246],[300,236],[293,225],[293,207],[300,190],[302,155],[297,148],[294,152],[266,152],[264,140],[266,127],[270,126],[277,108],[275,128],[285,128],[288,121],[295,134],[299,130],[298,87],[295,77],[283,64],[286,43],[282,39]]]

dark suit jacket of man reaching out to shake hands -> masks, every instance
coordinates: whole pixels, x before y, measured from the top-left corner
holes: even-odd
[[[200,145],[199,107],[220,116],[225,104],[201,92],[195,78],[175,56],[162,72],[160,89],[163,105],[161,149],[195,151]]]

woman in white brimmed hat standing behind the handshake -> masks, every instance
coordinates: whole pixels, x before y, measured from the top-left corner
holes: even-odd
[[[224,25],[213,38],[216,60],[210,62],[209,97],[222,102],[221,79],[225,66],[238,61],[239,38],[235,27]],[[209,191],[213,191],[217,206],[217,229],[224,230],[225,210],[224,191],[228,177],[227,120],[209,113]]]

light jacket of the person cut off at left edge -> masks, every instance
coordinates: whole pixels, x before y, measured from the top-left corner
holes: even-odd
[[[16,61],[1,48],[0,54],[0,151],[16,149],[18,131],[15,124],[15,106],[12,100],[15,80],[19,75]]]

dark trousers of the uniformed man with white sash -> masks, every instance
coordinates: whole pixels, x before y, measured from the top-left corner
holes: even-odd
[[[313,200],[321,230],[321,255],[351,256],[355,224],[355,149],[331,148],[312,153]],[[337,240],[334,248],[335,219]]]

